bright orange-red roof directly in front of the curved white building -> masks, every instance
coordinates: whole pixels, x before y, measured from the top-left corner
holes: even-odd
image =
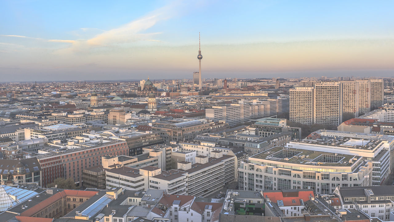
[[[287,194],[294,194],[294,195],[287,195]],[[307,190],[307,191],[297,191],[295,190],[294,192],[283,192],[281,190],[278,190],[277,192],[264,192],[263,196],[267,196],[269,200],[273,201],[276,203],[278,200],[283,201],[283,205],[286,206],[300,206],[300,199],[302,199],[304,202],[309,200],[309,196],[313,194],[313,190]],[[293,203],[295,200],[295,203]]]

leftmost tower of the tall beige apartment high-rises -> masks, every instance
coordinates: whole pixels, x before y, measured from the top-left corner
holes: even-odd
[[[314,87],[290,89],[290,121],[312,125],[314,123]]]

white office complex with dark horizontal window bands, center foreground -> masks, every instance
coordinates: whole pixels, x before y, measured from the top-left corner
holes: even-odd
[[[178,169],[167,171],[154,166],[106,169],[106,186],[128,190],[153,188],[166,190],[168,194],[209,196],[235,181],[235,156],[216,151],[210,158],[196,156],[195,162],[182,161],[178,163]]]

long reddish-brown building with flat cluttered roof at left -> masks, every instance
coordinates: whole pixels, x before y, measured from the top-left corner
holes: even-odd
[[[121,154],[128,154],[126,141],[88,136],[78,136],[66,143],[55,140],[38,152],[25,151],[26,158],[36,157],[41,165],[43,187],[59,177],[82,182],[83,169],[101,165],[102,156]]]

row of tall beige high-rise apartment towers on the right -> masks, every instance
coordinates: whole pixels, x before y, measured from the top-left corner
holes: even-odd
[[[289,94],[290,121],[338,126],[383,105],[383,80],[321,82]]]

